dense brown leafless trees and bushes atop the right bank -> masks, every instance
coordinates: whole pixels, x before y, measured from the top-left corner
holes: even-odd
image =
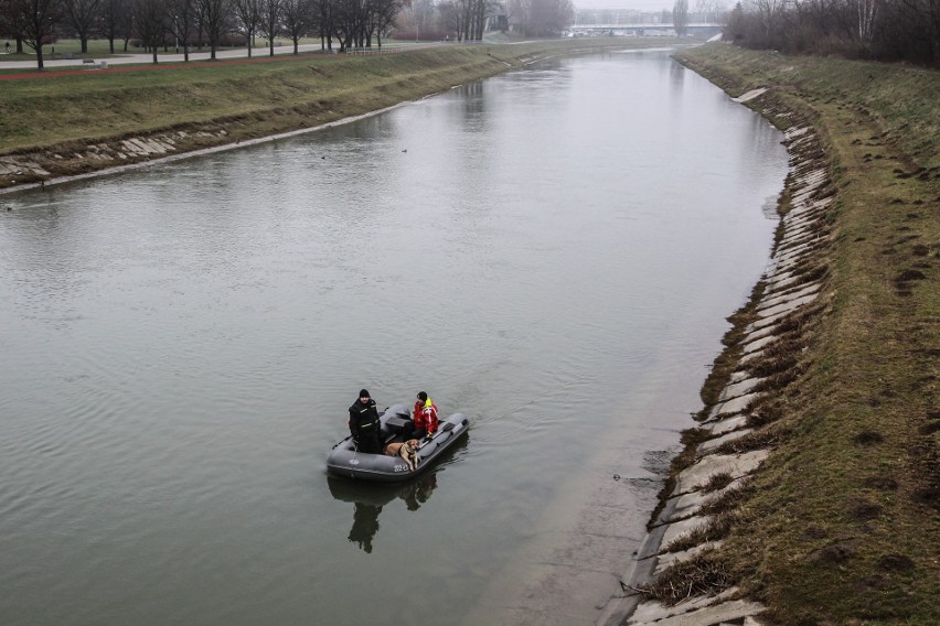
[[[791,54],[940,65],[940,0],[741,0],[725,39]]]

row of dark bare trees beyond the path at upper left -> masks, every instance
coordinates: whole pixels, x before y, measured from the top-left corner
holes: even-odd
[[[185,61],[193,47],[210,48],[211,58],[222,45],[267,40],[274,55],[275,39],[288,37],[297,54],[305,36],[319,36],[321,47],[340,51],[382,45],[406,0],[0,0],[0,36],[17,42],[17,52],[32,48],[43,67],[43,52],[56,35],[78,39],[82,53],[90,39],[115,42],[124,50],[130,40],[153,54],[160,47],[182,48]],[[248,56],[252,46],[248,45]]]

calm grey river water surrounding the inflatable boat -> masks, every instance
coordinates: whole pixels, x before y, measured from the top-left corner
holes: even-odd
[[[594,623],[767,261],[780,140],[608,53],[0,199],[0,623]],[[361,387],[469,436],[328,478]]]

